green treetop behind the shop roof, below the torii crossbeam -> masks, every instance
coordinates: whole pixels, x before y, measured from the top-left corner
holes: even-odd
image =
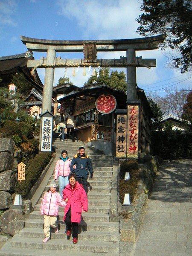
[[[116,88],[118,90],[126,91],[126,76],[124,72],[111,71],[109,74],[108,68],[102,68],[99,70],[99,76],[97,77],[97,72],[95,76],[90,76],[87,83],[84,83],[84,86],[92,84],[93,81],[96,81],[97,84],[105,84],[109,87]]]

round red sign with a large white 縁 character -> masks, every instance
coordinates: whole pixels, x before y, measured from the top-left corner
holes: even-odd
[[[102,114],[109,114],[116,108],[116,99],[113,95],[102,94],[95,102],[97,110]]]

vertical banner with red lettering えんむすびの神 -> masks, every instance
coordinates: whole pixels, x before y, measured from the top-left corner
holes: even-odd
[[[138,158],[139,106],[128,105],[127,157]]]

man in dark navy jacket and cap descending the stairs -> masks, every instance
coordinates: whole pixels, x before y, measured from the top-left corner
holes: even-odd
[[[74,165],[76,168],[74,169]],[[76,173],[76,180],[79,184],[82,184],[85,192],[88,192],[87,189],[87,178],[90,172],[90,177],[93,177],[93,166],[91,159],[85,154],[84,147],[79,147],[78,153],[73,157],[70,166],[71,172]]]

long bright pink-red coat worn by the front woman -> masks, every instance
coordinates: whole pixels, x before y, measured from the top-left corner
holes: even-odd
[[[69,199],[67,207],[64,209],[64,218],[71,207],[71,222],[81,222],[81,212],[87,212],[88,210],[88,200],[84,188],[79,185],[76,181],[76,186],[72,189],[70,184],[68,184],[63,190],[63,199]]]

